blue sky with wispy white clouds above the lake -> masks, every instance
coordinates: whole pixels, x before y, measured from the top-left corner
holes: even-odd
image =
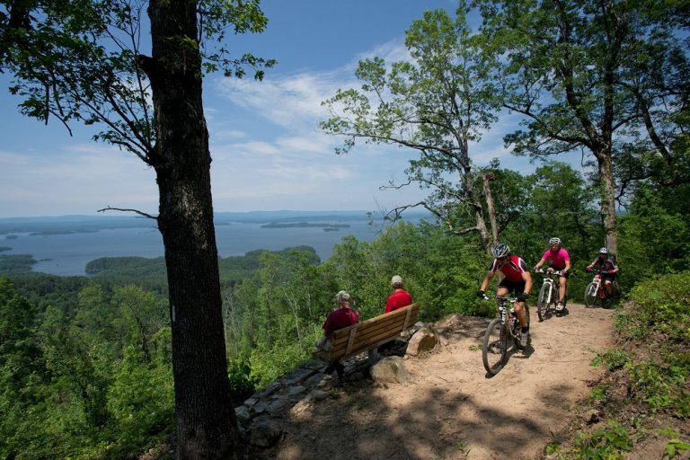
[[[425,10],[453,0],[264,0],[268,30],[231,37],[238,53],[276,58],[263,82],[210,75],[204,104],[211,142],[214,208],[249,210],[378,210],[418,201],[422,191],[379,190],[402,181],[413,155],[386,146],[356,146],[335,155],[341,139],[320,132],[320,103],[356,84],[364,57],[405,57],[404,31]],[[95,143],[86,128],[74,137],[57,123],[22,117],[0,75],[0,217],[94,215],[100,208],[157,212],[155,173],[134,155]],[[523,173],[534,167],[504,151],[501,119],[473,146],[475,164],[500,157]],[[515,127],[514,124],[512,124]]]

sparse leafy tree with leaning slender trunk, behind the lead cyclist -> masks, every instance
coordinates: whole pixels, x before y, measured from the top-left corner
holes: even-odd
[[[336,153],[346,153],[358,139],[411,149],[404,184],[429,190],[419,203],[446,222],[451,232],[479,234],[489,251],[492,242],[475,186],[470,145],[496,120],[495,91],[487,60],[466,21],[461,2],[456,19],[443,10],[424,13],[405,34],[410,60],[387,64],[375,57],[359,62],[361,89],[340,90],[323,102],[332,117],[321,123],[327,133],[345,137]],[[494,233],[495,234],[495,233]]]

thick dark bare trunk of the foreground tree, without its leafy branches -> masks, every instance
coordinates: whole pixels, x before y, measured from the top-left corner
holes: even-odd
[[[208,130],[201,100],[197,5],[149,4],[156,150],[173,327],[177,458],[234,456],[238,430],[231,406],[211,199]]]

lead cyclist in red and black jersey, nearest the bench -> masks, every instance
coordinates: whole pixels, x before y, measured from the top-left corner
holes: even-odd
[[[510,255],[510,248],[507,244],[498,244],[493,249],[492,253],[495,260],[491,263],[489,271],[482,280],[482,287],[479,288],[477,295],[480,297],[484,296],[484,291],[489,287],[489,282],[497,271],[503,274],[503,279],[500,280],[496,295],[507,296],[509,293],[515,292],[517,296],[515,313],[517,314],[517,320],[520,322],[520,326],[522,326],[520,345],[526,347],[529,327],[527,325],[527,315],[525,313],[525,301],[529,292],[532,290],[532,275],[529,274],[527,265],[521,257]]]

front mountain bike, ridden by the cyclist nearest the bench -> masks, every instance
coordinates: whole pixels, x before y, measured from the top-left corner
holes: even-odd
[[[484,368],[491,374],[497,374],[501,367],[506,364],[508,358],[509,341],[513,341],[516,349],[522,349],[520,345],[520,337],[522,336],[522,328],[517,319],[517,314],[513,308],[508,308],[508,305],[513,305],[517,301],[517,297],[505,296],[484,296],[485,299],[490,298],[499,299],[499,317],[494,318],[489,327],[484,332],[484,340],[482,341],[482,360]],[[527,315],[527,329],[529,329],[529,309],[525,304],[525,313]],[[529,338],[527,338],[529,340]]]

